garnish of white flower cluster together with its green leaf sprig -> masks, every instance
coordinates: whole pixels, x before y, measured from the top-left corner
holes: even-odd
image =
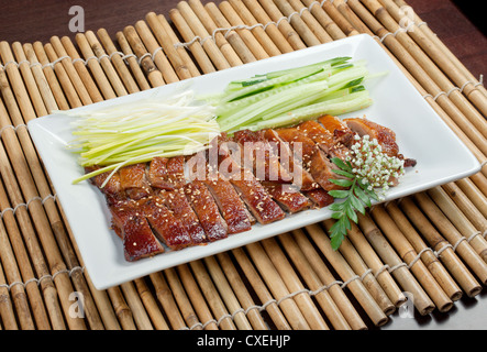
[[[384,200],[384,194],[403,175],[403,161],[383,153],[377,140],[369,140],[368,135],[362,139],[355,136],[344,161],[331,158],[339,168],[333,169],[344,178],[330,179],[331,183],[346,189],[330,190],[333,198],[343,199],[330,206],[332,218],[337,220],[330,228],[330,239],[333,250],[337,250],[353,222],[358,221],[356,211],[365,215],[365,208],[370,207],[374,200]],[[381,187],[378,191],[377,188]]]

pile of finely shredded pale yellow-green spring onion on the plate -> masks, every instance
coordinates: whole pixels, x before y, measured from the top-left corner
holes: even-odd
[[[198,102],[191,90],[166,99],[150,97],[95,112],[67,113],[76,117],[69,148],[79,154],[79,165],[101,166],[75,184],[155,156],[193,154],[220,134],[214,108]]]

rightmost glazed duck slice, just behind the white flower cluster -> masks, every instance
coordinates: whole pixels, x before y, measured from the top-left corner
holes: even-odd
[[[369,135],[370,140],[376,139],[381,146],[383,152],[389,156],[396,156],[403,160],[405,167],[416,166],[416,160],[405,158],[402,154],[399,154],[399,146],[396,143],[396,133],[392,130],[367,119],[345,119],[344,122],[359,136]]]

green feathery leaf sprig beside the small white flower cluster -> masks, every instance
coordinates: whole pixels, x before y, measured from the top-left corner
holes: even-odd
[[[370,207],[372,200],[379,200],[379,197],[374,188],[367,188],[368,182],[366,179],[353,173],[353,166],[348,161],[344,162],[339,157],[332,157],[331,162],[340,167],[333,169],[333,172],[346,178],[330,179],[330,182],[347,188],[329,191],[333,198],[344,199],[344,201],[334,202],[330,206],[330,210],[333,210],[331,217],[337,220],[330,228],[331,245],[333,250],[337,250],[347,231],[352,228],[351,220],[355,223],[358,221],[356,211],[365,215],[365,207]]]

